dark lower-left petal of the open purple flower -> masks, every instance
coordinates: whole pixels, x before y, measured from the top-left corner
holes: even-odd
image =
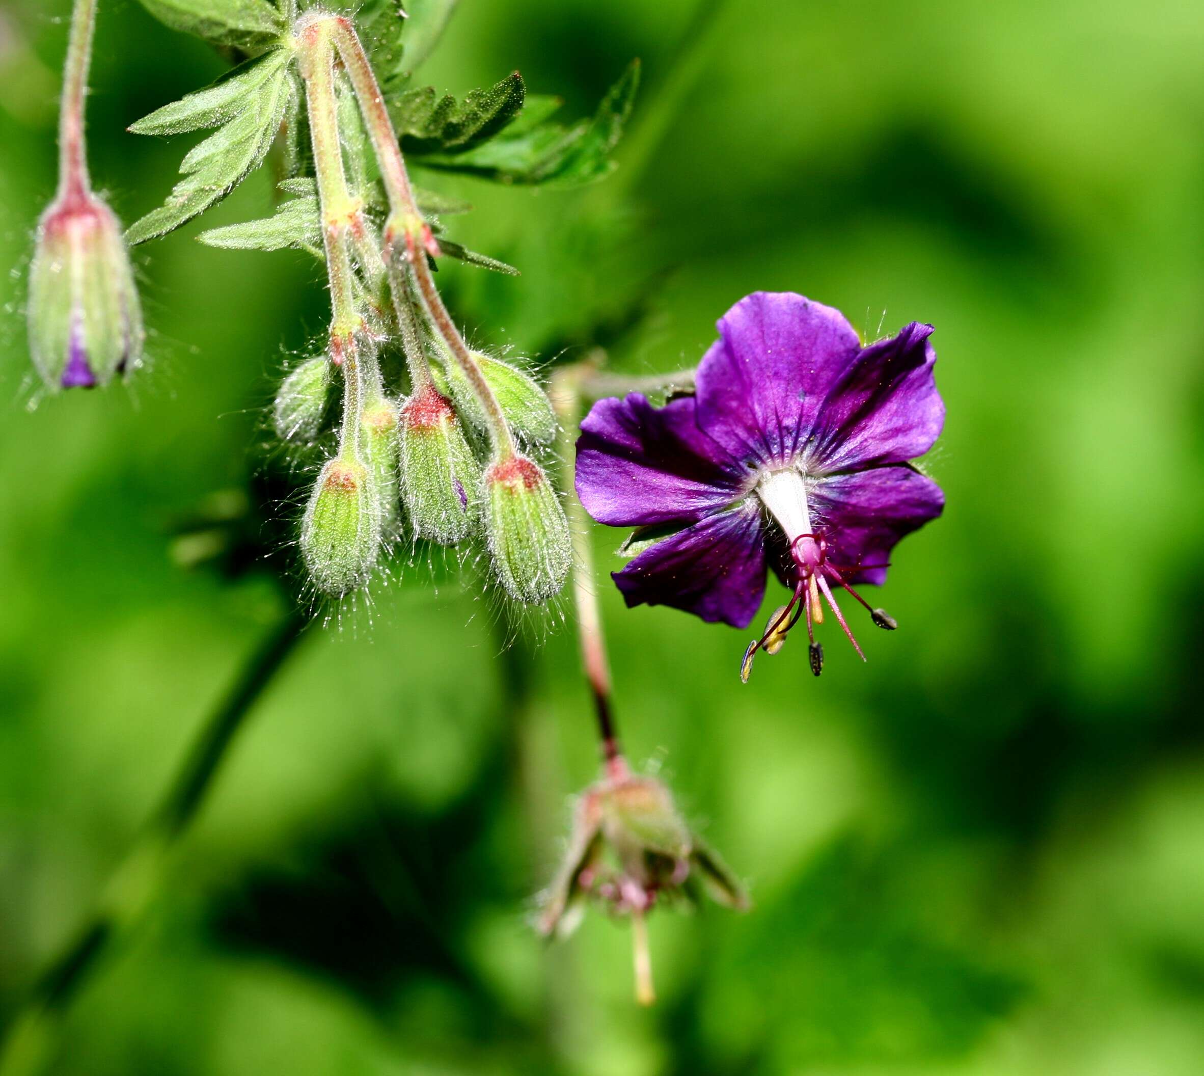
[[[765,596],[765,541],[755,499],[657,542],[613,574],[628,606],[669,605],[746,628]]]

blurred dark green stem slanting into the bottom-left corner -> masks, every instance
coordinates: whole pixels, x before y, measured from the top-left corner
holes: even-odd
[[[289,612],[205,722],[159,810],[105,887],[92,922],[37,978],[10,1022],[0,1049],[0,1076],[31,1076],[45,1068],[58,1021],[150,902],[169,853],[196,818],[231,743],[293,653],[305,625],[300,613]]]

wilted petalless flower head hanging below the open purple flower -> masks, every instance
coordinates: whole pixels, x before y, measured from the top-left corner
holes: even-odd
[[[700,888],[713,900],[744,910],[748,896],[736,877],[685,824],[668,788],[632,774],[622,757],[582,793],[568,852],[543,898],[539,930],[567,935],[588,901],[628,916],[636,949],[636,990],[653,1001],[644,916],[666,900],[695,901]]]

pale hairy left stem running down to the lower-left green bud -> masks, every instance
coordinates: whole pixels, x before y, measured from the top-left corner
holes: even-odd
[[[335,47],[330,23],[324,19],[303,22],[296,40],[305,78],[309,112],[309,140],[313,146],[318,198],[321,204],[321,231],[326,247],[326,274],[330,281],[332,318],[330,325],[331,358],[343,368],[343,428],[338,454],[355,459],[359,452],[360,411],[364,386],[355,334],[361,319],[355,307],[355,274],[348,234],[361,216],[360,202],[352,198],[343,171],[343,151],[338,139],[338,101],[335,94]],[[362,224],[362,222],[360,222]]]

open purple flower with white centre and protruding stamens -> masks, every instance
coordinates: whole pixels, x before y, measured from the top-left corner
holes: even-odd
[[[944,507],[937,483],[908,464],[945,417],[931,333],[913,322],[863,347],[839,311],[757,292],[719,322],[695,395],[595,404],[577,442],[577,494],[600,523],[660,536],[614,574],[627,605],[746,628],[772,568],[791,595],[749,647],[744,678],[756,651],[773,653],[803,615],[819,675],[821,598],[861,654],[833,590],[869,610],[854,586],[883,583],[895,543]]]

